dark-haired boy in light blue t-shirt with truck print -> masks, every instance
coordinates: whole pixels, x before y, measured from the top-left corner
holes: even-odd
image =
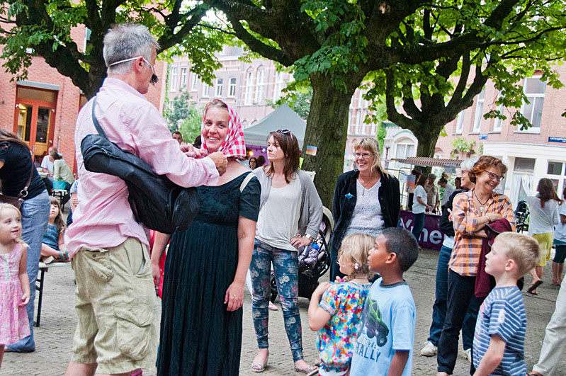
[[[351,376],[411,375],[415,307],[403,273],[418,256],[419,244],[405,229],[390,227],[375,238],[368,265],[381,278],[366,299]]]

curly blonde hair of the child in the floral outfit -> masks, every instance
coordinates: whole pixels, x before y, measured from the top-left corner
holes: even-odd
[[[338,251],[338,260],[344,258],[344,261],[353,265],[353,272],[344,280],[353,280],[358,275],[373,276],[368,266],[368,254],[373,249],[374,241],[375,238],[368,234],[352,234],[344,238]]]

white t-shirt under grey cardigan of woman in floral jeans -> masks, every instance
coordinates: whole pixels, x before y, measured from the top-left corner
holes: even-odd
[[[300,180],[296,173],[287,186],[271,187],[269,198],[259,210],[256,238],[279,249],[297,251],[290,240],[299,230],[300,200]]]

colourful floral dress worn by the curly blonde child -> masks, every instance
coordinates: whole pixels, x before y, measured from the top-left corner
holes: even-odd
[[[370,287],[371,283],[337,283],[322,295],[319,307],[332,316],[318,331],[317,348],[322,371],[340,373],[348,370]]]

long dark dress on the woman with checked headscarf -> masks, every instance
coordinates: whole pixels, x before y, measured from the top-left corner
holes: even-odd
[[[257,221],[261,187],[244,173],[222,186],[198,187],[200,212],[171,237],[163,283],[158,375],[238,375],[242,308],[224,298],[238,263],[238,218]]]

